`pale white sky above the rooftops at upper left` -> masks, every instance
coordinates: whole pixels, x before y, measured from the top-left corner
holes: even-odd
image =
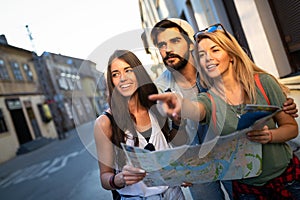
[[[99,46],[131,31],[139,37],[142,30],[138,0],[1,0],[1,8],[0,34],[38,55],[88,59]]]

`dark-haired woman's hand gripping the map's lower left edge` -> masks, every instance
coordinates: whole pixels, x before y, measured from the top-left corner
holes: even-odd
[[[125,185],[132,185],[134,183],[137,183],[143,180],[144,177],[146,176],[145,170],[130,165],[125,165],[121,173]]]

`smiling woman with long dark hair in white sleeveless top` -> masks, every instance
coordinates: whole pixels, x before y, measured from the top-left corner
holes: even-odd
[[[96,119],[100,180],[121,199],[185,199],[179,186],[147,187],[146,172],[126,163],[121,143],[151,150],[170,148],[168,121],[148,95],[157,94],[147,71],[130,51],[116,50],[108,61],[107,85],[110,109]]]

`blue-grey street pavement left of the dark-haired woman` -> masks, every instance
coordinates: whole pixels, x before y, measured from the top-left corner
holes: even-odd
[[[81,127],[92,135],[93,124]],[[107,200],[100,185],[97,160],[77,131],[0,165],[1,200]]]

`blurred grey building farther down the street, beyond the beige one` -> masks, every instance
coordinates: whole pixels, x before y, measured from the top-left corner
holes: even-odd
[[[60,54],[44,52],[38,65],[59,138],[65,132],[94,120],[105,102],[105,92],[97,87],[103,73],[95,63]],[[105,88],[103,89],[105,90]]]

